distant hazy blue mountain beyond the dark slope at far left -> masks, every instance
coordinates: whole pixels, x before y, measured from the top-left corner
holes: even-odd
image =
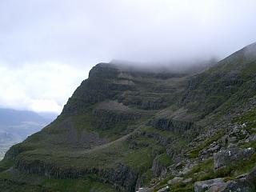
[[[54,120],[27,110],[0,109],[0,159],[15,143],[22,142]]]

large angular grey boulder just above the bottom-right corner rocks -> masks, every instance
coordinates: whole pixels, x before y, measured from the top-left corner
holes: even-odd
[[[220,169],[226,166],[234,164],[234,162],[242,161],[250,158],[254,154],[254,149],[229,149],[221,150],[218,153],[214,154],[214,169]]]

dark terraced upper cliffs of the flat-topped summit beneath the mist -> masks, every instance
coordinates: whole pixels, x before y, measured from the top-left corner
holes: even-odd
[[[166,73],[166,75],[169,74]],[[157,73],[138,72],[108,63],[100,63],[90,70],[89,78],[74,91],[62,114],[82,114],[88,106],[106,99],[117,99],[126,106],[136,106],[143,110],[163,109],[170,105],[170,96],[174,97],[182,85],[162,85],[164,83],[160,82],[166,78],[158,76]],[[169,76],[170,78],[182,78],[185,74],[170,74]],[[149,81],[152,78],[156,84],[153,83],[154,81]]]

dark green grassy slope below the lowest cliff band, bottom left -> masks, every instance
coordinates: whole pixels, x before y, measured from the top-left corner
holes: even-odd
[[[12,178],[10,172],[2,172],[0,174],[0,186],[3,189],[8,187],[10,189],[11,182],[11,191],[33,191],[33,192],[115,192],[110,184],[97,182],[94,177],[88,176],[84,179],[54,179],[46,178],[38,175],[30,174],[18,174],[18,177]],[[3,190],[2,189],[2,190]]]

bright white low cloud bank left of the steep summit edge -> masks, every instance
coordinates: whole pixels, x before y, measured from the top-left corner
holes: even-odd
[[[53,62],[0,66],[0,107],[60,113],[86,75],[83,70]]]

